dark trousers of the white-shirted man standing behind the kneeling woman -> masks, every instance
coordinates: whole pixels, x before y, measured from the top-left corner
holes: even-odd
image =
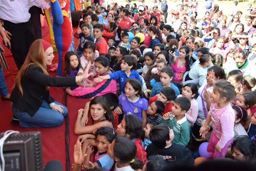
[[[15,64],[20,70],[22,64],[25,61],[26,55],[29,51],[29,47],[33,41],[35,41],[34,31],[32,29],[31,22],[26,23],[12,23],[4,20],[4,29],[12,34],[11,37],[11,52],[14,58]]]

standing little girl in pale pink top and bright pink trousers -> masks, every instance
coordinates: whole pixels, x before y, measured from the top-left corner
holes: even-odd
[[[206,122],[200,128],[200,135],[207,133],[207,126],[212,121],[213,133],[207,146],[210,154],[207,159],[225,157],[227,148],[234,137],[235,113],[230,101],[235,97],[235,89],[228,81],[219,80],[211,93],[212,104]]]

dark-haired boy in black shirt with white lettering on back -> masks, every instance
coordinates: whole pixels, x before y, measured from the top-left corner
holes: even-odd
[[[152,155],[162,157],[170,166],[193,165],[194,158],[188,148],[173,143],[175,139],[174,128],[167,124],[159,124],[151,128],[149,133],[151,144],[146,149],[147,159]]]

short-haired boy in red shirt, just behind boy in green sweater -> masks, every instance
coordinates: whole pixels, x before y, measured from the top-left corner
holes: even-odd
[[[160,91],[159,95],[151,97],[148,101],[148,105],[150,105],[153,101],[162,101],[164,104],[164,110],[160,113],[163,116],[165,113],[172,111],[172,99],[175,97],[175,91],[171,87],[163,87]]]

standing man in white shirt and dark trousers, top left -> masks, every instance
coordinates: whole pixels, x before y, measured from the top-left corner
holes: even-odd
[[[49,4],[44,0],[1,0],[0,3],[0,19],[3,20],[3,28],[10,39],[11,52],[19,70],[31,43],[35,41],[29,20],[29,8],[33,5],[50,10]]]

